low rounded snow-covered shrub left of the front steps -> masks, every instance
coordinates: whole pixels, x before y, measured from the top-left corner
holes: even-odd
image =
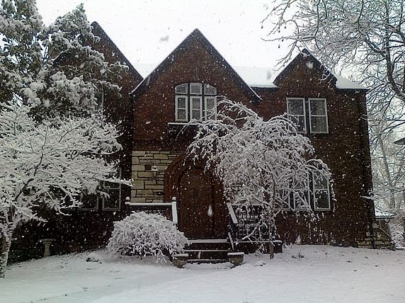
[[[173,222],[161,215],[133,212],[114,223],[108,241],[111,256],[157,256],[181,253],[188,239]]]

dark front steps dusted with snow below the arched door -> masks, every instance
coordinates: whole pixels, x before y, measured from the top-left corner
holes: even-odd
[[[193,239],[184,253],[188,253],[188,263],[222,263],[231,251],[227,239]]]

